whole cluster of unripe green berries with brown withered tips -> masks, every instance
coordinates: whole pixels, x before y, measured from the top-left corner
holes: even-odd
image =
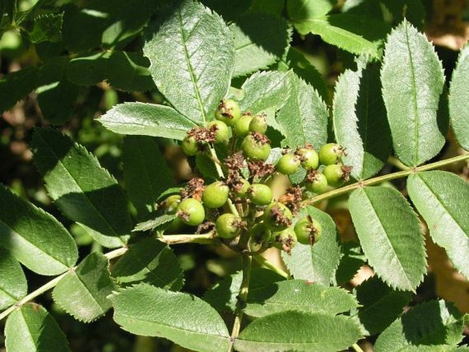
[[[181,148],[189,156],[205,153],[216,143],[228,145],[231,138],[227,158],[216,160],[225,179],[205,185],[203,179],[194,178],[181,194],[168,197],[162,206],[176,218],[165,232],[197,226],[197,231],[215,231],[225,244],[244,253],[269,247],[290,253],[297,242],[312,245],[320,239],[322,227],[316,219],[305,216],[294,224],[294,215],[301,208],[304,188],[321,193],[328,184],[346,181],[350,168],[341,164],[344,149],[331,143],[316,152],[307,144],[294,152],[284,151],[274,166],[266,162],[270,155],[267,127],[265,114],[242,113],[236,101],[226,99],[218,105],[214,121],[188,131]],[[300,167],[307,171],[302,184],[274,199],[266,181],[276,172],[292,175]]]

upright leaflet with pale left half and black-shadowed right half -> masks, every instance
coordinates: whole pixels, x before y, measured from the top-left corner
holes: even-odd
[[[335,85],[334,133],[346,148],[345,165],[355,179],[367,179],[384,166],[391,152],[391,138],[381,97],[379,68],[362,62],[357,71],[346,70]]]

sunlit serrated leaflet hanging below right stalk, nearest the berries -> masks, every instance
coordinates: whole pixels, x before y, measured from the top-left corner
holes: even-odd
[[[415,292],[427,272],[427,260],[420,222],[403,195],[394,188],[358,188],[348,205],[377,275],[392,288]]]

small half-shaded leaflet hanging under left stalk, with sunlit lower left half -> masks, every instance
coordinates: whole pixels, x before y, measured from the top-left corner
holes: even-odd
[[[107,296],[116,289],[109,273],[109,260],[101,253],[93,252],[59,281],[52,296],[68,314],[89,323],[110,309]]]

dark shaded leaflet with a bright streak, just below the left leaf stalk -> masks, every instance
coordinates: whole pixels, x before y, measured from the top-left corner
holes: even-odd
[[[112,276],[121,286],[144,282],[168,290],[181,290],[184,277],[173,251],[160,240],[147,238],[129,247],[112,266]]]

